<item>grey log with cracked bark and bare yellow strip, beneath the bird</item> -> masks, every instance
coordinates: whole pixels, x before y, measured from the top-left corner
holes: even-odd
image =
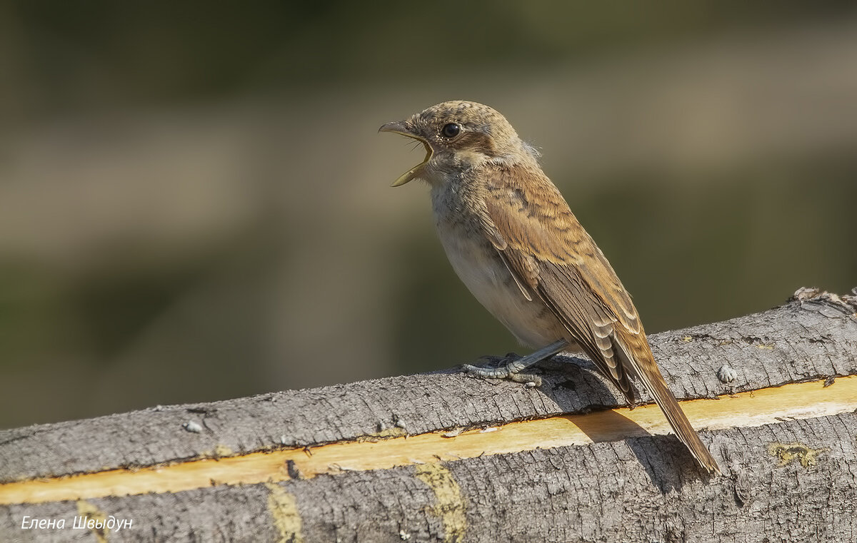
[[[3,431],[0,540],[857,540],[857,296],[650,343],[722,476],[558,357]]]

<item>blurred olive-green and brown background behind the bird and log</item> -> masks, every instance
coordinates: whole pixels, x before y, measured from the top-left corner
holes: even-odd
[[[857,285],[854,3],[2,3],[0,66],[0,427],[521,350],[389,187],[446,99],[650,332]]]

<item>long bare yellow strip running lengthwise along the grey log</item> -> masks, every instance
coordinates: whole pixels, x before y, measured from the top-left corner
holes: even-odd
[[[788,418],[838,415],[857,409],[857,375],[784,385],[722,396],[716,400],[680,402],[698,428],[756,427]],[[314,447],[255,452],[220,459],[201,459],[153,468],[112,469],[51,479],[0,485],[0,504],[43,503],[66,499],[124,496],[146,492],[181,492],[213,485],[258,484],[335,474],[345,470],[386,469],[536,448],[586,445],[632,436],[670,433],[656,405],[611,409],[586,415],[553,416],[510,422],[488,431],[475,429],[452,438],[445,432],[372,441],[347,441]]]

